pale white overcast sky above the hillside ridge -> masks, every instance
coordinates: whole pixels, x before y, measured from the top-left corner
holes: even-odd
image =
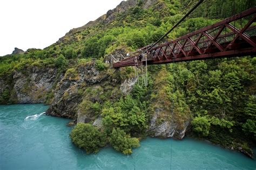
[[[116,8],[122,0],[1,0],[0,56],[56,43],[73,28]]]

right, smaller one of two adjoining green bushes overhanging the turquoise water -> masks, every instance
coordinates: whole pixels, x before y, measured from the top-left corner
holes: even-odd
[[[110,135],[110,145],[123,154],[131,154],[133,147],[139,147],[139,140],[131,138],[120,128],[113,129]]]

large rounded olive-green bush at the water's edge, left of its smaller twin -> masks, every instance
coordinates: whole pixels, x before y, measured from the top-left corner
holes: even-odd
[[[87,154],[97,153],[105,146],[104,135],[90,124],[78,123],[70,133],[70,138],[76,146],[85,149]]]

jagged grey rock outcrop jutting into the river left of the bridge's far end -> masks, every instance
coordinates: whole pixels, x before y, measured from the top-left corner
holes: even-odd
[[[88,115],[79,112],[78,105],[82,101],[80,88],[85,86],[94,86],[106,80],[108,74],[99,72],[95,67],[95,62],[80,65],[77,68],[77,78],[64,76],[59,81],[55,90],[54,99],[46,114],[56,117],[77,119],[78,122],[86,122]]]

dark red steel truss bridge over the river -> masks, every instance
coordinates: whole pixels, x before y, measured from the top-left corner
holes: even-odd
[[[210,58],[256,55],[256,7],[139,55],[125,58],[113,67],[164,64]]]

